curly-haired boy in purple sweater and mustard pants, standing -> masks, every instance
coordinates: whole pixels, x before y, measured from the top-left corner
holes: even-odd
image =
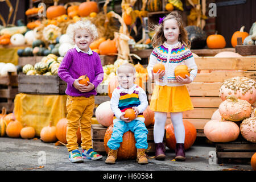
[[[89,46],[98,36],[97,28],[89,21],[79,21],[70,24],[67,34],[75,43],[75,48],[69,49],[61,61],[58,75],[67,82],[65,93],[67,99],[67,148],[69,160],[73,163],[82,163],[83,159],[98,160],[102,155],[92,149],[91,121],[94,109],[94,96],[96,87],[103,80],[104,72],[100,56],[93,52]],[[79,78],[87,75],[88,86],[79,84]],[[80,126],[81,148],[77,144],[77,129]]]

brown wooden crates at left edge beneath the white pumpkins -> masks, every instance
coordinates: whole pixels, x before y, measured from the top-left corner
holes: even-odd
[[[14,98],[18,94],[18,76],[8,73],[0,77],[0,109],[6,108],[7,113],[13,112]]]

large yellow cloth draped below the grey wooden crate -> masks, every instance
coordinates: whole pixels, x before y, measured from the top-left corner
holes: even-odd
[[[34,127],[36,136],[44,126],[56,126],[61,118],[67,116],[67,95],[34,95],[19,93],[14,100],[14,114],[18,121]]]

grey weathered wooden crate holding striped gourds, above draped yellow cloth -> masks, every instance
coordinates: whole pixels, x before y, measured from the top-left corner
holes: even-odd
[[[65,94],[66,82],[58,75],[23,75],[18,76],[19,93]]]

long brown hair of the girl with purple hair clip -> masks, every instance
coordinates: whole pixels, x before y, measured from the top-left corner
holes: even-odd
[[[152,37],[151,40],[151,44],[152,46],[158,47],[161,46],[165,41],[166,38],[164,37],[164,32],[163,32],[163,26],[164,26],[164,22],[168,19],[175,19],[177,21],[177,24],[179,26],[179,30],[180,30],[180,35],[179,35],[179,42],[183,43],[184,46],[190,48],[191,43],[188,40],[188,34],[187,31],[185,30],[184,26],[183,26],[183,20],[181,15],[179,15],[177,13],[177,11],[172,11],[170,14],[168,14],[164,19],[163,22],[156,25],[154,28],[154,36]]]

